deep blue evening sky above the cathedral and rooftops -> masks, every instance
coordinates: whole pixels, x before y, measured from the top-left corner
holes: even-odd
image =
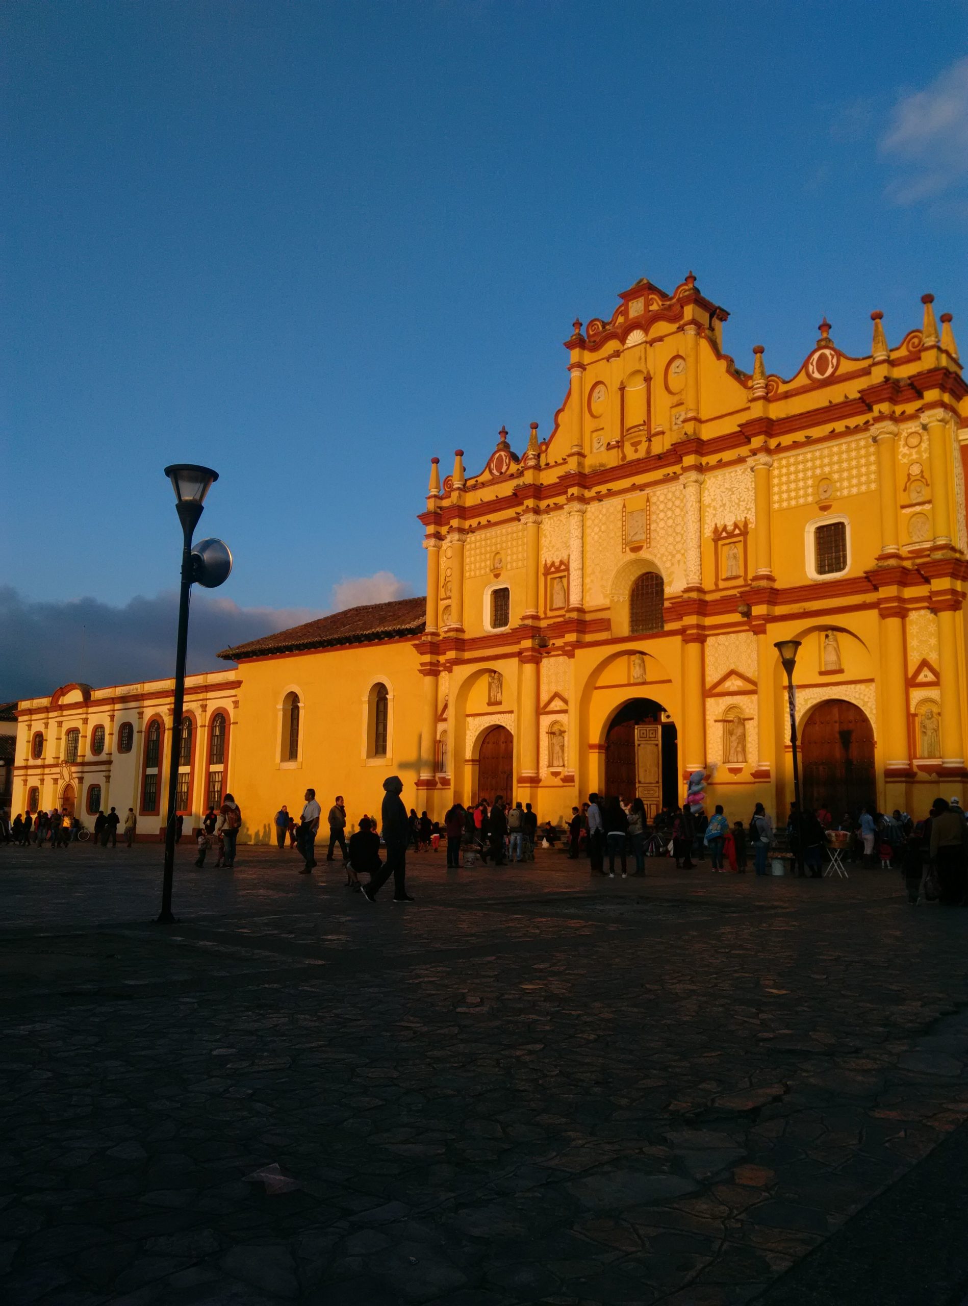
[[[430,456],[546,432],[572,319],[641,276],[692,268],[729,351],[784,374],[824,313],[863,353],[926,290],[968,349],[967,18],[12,0],[0,626],[167,602],[171,460],[222,474],[201,530],[253,633],[421,593]],[[0,695],[35,680],[0,636]]]

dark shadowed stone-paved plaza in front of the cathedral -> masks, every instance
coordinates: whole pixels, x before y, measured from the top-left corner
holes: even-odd
[[[159,927],[159,854],[0,848],[9,1306],[963,1301],[968,917],[895,874],[183,845]]]

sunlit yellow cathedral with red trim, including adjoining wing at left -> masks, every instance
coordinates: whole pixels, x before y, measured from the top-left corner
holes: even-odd
[[[695,772],[707,810],[785,816],[781,640],[801,641],[807,806],[964,798],[968,388],[950,315],[922,303],[894,346],[871,313],[863,358],[824,320],[789,379],[762,346],[737,366],[692,274],[575,321],[546,438],[532,423],[519,453],[502,428],[483,466],[459,449],[443,478],[431,460],[426,598],[225,649],[231,670],[189,678],[186,824],[230,788],[243,837],[265,841],[306,788],[354,818],[391,773],[432,816],[500,793],[557,821],[592,791],[652,814]],[[97,785],[157,837],[170,729],[171,682],[21,703],[14,811],[65,786],[90,810]]]

